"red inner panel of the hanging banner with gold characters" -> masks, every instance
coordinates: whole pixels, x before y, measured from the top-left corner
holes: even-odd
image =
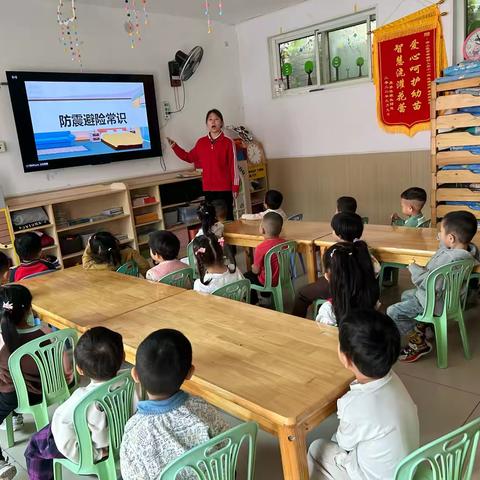
[[[433,29],[379,43],[380,114],[385,125],[410,129],[430,122],[435,34]]]

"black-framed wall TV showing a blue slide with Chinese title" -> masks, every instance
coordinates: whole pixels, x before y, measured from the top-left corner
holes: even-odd
[[[25,172],[162,154],[152,75],[6,73]]]

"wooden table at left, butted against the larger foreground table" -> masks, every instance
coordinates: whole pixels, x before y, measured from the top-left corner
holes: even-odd
[[[44,322],[80,331],[92,322],[102,322],[185,291],[121,273],[84,270],[81,266],[20,283],[32,292],[33,309]]]

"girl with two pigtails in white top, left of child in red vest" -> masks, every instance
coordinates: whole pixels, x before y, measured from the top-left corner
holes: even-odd
[[[229,283],[243,279],[228,246],[225,246],[225,253],[229,264],[225,265],[222,243],[223,239],[217,239],[212,233],[201,235],[193,240],[193,253],[200,274],[200,278],[197,278],[193,284],[193,289],[197,292],[213,293]]]

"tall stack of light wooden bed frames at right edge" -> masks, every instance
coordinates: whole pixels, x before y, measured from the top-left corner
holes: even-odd
[[[480,116],[465,112],[452,112],[461,107],[480,107],[480,96],[458,94],[459,88],[480,87],[480,76],[465,80],[432,83],[431,113],[431,218],[436,225],[448,212],[467,210],[480,220],[480,210],[468,205],[447,205],[445,202],[480,202],[480,191],[470,184],[480,184],[480,174],[468,169],[445,170],[448,165],[480,164],[480,155],[464,150],[448,150],[450,147],[480,146],[480,135],[464,131],[468,127],[480,127]]]

